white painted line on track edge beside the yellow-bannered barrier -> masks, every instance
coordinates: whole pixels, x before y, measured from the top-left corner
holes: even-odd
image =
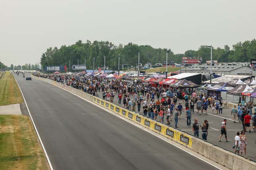
[[[46,81],[45,81],[45,82],[46,82]],[[50,83],[50,84],[53,85],[52,83]],[[58,87],[57,85],[54,85],[54,86]],[[58,87],[58,88],[62,89],[61,87]],[[217,168],[217,169],[219,169],[219,170],[222,170],[222,169],[219,168],[218,166],[215,166],[214,164],[211,164],[210,162],[207,162],[206,160],[204,160],[204,159],[202,159],[202,158],[200,158],[200,157],[194,155],[193,153],[190,153],[189,151],[186,151],[185,149],[182,149],[181,147],[179,147],[179,146],[177,146],[177,145],[175,145],[175,144],[173,144],[173,143],[167,141],[166,139],[164,139],[164,138],[162,138],[162,137],[160,137],[160,136],[157,136],[157,135],[154,134],[153,132],[151,132],[151,131],[149,131],[149,130],[146,130],[144,127],[141,127],[140,125],[137,125],[137,124],[133,124],[133,123],[131,123],[129,120],[125,119],[124,117],[118,116],[116,113],[112,113],[110,110],[107,110],[106,108],[103,108],[102,106],[99,106],[99,105],[97,105],[96,103],[93,103],[93,102],[91,102],[91,101],[89,101],[89,100],[87,100],[87,99],[85,99],[85,98],[83,98],[83,97],[81,97],[81,96],[79,96],[79,95],[77,95],[77,94],[75,94],[75,93],[72,93],[72,92],[70,92],[70,91],[68,91],[68,90],[66,90],[66,89],[63,89],[63,90],[65,90],[65,91],[67,91],[67,92],[69,92],[69,93],[71,93],[71,94],[74,94],[75,96],[77,96],[77,97],[79,97],[79,98],[81,98],[81,99],[83,99],[83,100],[89,102],[90,104],[93,104],[94,106],[97,106],[98,108],[101,108],[102,110],[105,110],[105,111],[111,113],[112,115],[115,115],[116,117],[119,117],[120,119],[123,119],[124,121],[127,121],[127,122],[130,123],[131,125],[134,125],[134,126],[136,126],[136,127],[141,128],[142,130],[145,130],[146,132],[148,132],[148,133],[150,133],[150,134],[152,134],[152,135],[154,135],[154,136],[156,136],[156,137],[158,137],[158,138],[164,140],[165,142],[167,142],[167,143],[169,143],[169,144],[171,144],[171,145],[173,145],[173,146],[175,146],[175,147],[181,149],[182,151],[184,151],[184,152],[186,152],[186,153],[189,153],[190,155],[192,155],[192,156],[194,156],[194,157],[196,157],[196,158],[198,158],[198,159],[200,159],[200,160],[202,160],[202,161],[204,161],[204,162],[206,162],[206,163],[208,163],[208,164],[214,166],[215,168]]]

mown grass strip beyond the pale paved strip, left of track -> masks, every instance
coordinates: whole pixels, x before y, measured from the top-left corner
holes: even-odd
[[[0,106],[21,102],[23,98],[14,77],[10,72],[3,73],[0,78]]]

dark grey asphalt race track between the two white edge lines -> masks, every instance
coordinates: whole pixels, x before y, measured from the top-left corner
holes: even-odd
[[[217,169],[54,85],[15,78],[54,170]]]

